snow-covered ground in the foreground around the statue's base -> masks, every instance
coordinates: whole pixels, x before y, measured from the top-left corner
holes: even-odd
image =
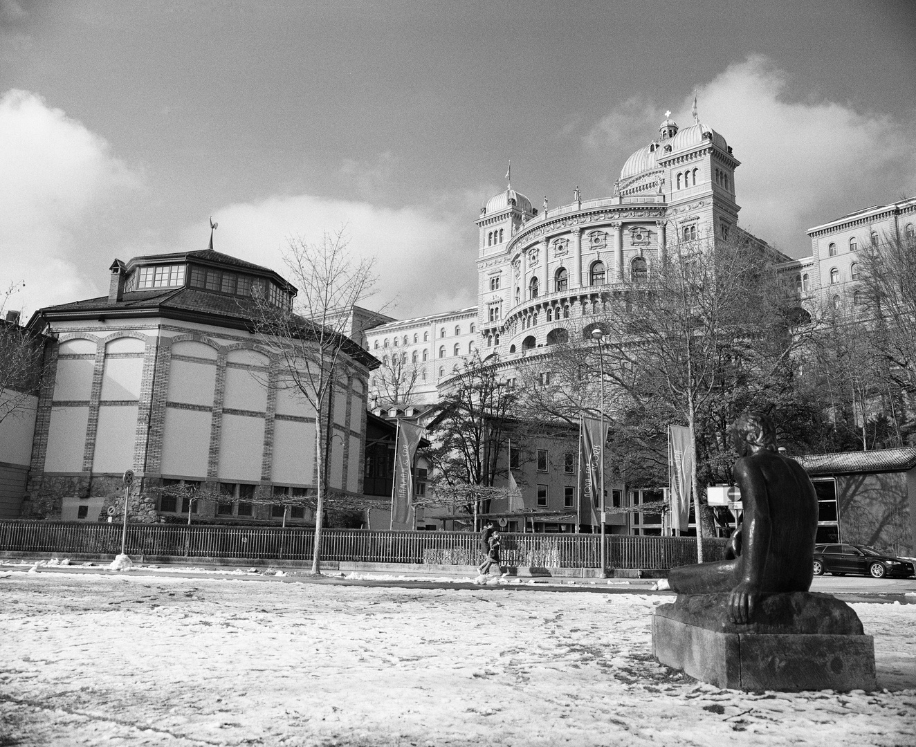
[[[878,692],[747,694],[655,663],[638,593],[17,571],[0,600],[2,745],[916,743],[916,605],[854,605]]]

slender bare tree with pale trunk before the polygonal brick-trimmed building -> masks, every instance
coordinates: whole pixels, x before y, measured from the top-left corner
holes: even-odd
[[[354,260],[344,229],[323,233],[317,244],[291,240],[284,255],[299,294],[291,304],[270,298],[256,301],[255,328],[260,341],[279,361],[275,385],[300,396],[315,413],[315,543],[313,574],[321,573],[322,520],[328,479],[330,412],[335,387],[346,385],[349,360],[362,354],[347,337],[349,312],[374,293],[375,259]],[[367,353],[366,353],[367,354]]]

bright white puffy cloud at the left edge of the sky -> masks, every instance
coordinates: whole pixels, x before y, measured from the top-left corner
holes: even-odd
[[[97,239],[142,179],[103,138],[27,91],[0,97],[0,283],[25,281],[9,308],[27,313],[104,292]]]

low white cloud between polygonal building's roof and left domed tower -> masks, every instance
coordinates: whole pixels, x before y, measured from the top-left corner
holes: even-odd
[[[378,309],[391,303],[387,313],[403,319],[476,303],[476,243],[466,218],[418,206],[275,196],[214,212],[220,225],[214,247],[286,275],[282,255],[290,238],[317,243],[324,231],[344,227],[354,254],[377,258],[378,292],[364,305]],[[189,227],[181,245],[202,246],[208,231],[204,222]]]

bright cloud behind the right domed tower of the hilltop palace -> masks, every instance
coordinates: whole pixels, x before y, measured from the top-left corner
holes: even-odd
[[[741,225],[788,254],[810,254],[805,231],[847,212],[916,194],[916,124],[850,104],[793,100],[785,72],[765,57],[729,66],[697,89],[700,121],[741,161],[735,188]],[[674,119],[692,124],[692,92]],[[656,136],[661,107],[633,99],[596,123],[587,150],[618,173]],[[639,136],[634,136],[638,131]],[[627,149],[621,144],[629,142]]]

